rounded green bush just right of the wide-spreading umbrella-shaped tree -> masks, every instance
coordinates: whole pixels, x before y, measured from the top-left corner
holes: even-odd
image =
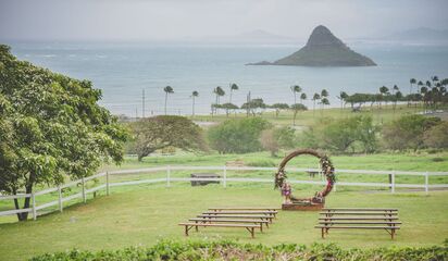
[[[209,129],[210,147],[220,153],[260,151],[260,134],[269,126],[269,122],[261,117],[227,120]]]

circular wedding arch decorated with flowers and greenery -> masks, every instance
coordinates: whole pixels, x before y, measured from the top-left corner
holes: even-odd
[[[324,153],[318,152],[312,149],[298,149],[296,151],[293,151],[288,156],[283,159],[278,166],[277,173],[275,173],[275,188],[282,188],[283,184],[286,182],[287,175],[286,175],[286,164],[294,159],[295,157],[301,156],[301,154],[310,154],[314,156],[320,160],[322,173],[325,175],[327,184],[322,189],[321,191],[315,192],[314,197],[311,199],[297,199],[291,197],[293,202],[295,201],[309,201],[311,203],[323,203],[324,198],[332,191],[333,186],[336,182],[336,176],[335,176],[335,169],[333,166],[332,161],[328,159],[328,157]]]

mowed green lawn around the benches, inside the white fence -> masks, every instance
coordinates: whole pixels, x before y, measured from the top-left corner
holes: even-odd
[[[296,191],[312,195],[313,191]],[[313,228],[318,212],[281,211],[265,233],[238,228],[201,228],[190,239],[238,239],[275,245],[281,243],[336,243],[341,247],[440,245],[448,237],[448,191],[423,192],[333,192],[327,207],[398,208],[402,228],[390,240],[385,231],[332,231],[321,239]],[[63,213],[39,216],[37,221],[0,225],[0,260],[24,260],[43,252],[79,248],[117,249],[150,246],[162,238],[187,239],[178,222],[194,217],[209,207],[279,206],[278,191],[271,186],[228,187],[219,185],[189,187],[174,184],[171,188],[134,186],[117,188],[112,195],[97,197],[87,204],[66,208]]]

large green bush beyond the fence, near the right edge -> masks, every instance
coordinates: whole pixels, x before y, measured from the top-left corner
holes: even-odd
[[[438,117],[406,115],[383,127],[383,144],[387,149],[405,150],[424,148],[424,133],[440,123]],[[438,133],[439,129],[435,129]],[[435,141],[435,140],[434,140]],[[430,144],[433,142],[428,141]],[[435,144],[437,144],[435,141]]]

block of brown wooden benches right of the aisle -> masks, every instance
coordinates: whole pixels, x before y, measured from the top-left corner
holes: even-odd
[[[385,229],[394,239],[401,222],[398,221],[398,209],[366,209],[366,208],[339,208],[323,209],[319,219],[322,238],[331,228],[338,229]]]

